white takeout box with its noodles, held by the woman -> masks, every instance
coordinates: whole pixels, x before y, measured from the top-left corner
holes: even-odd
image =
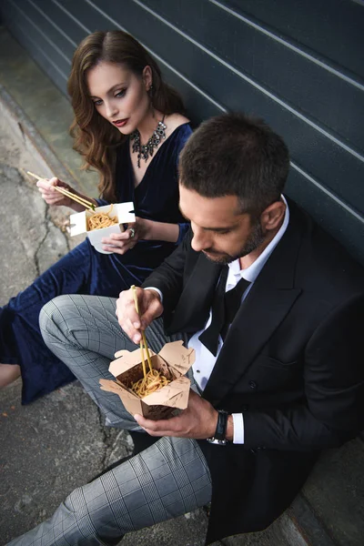
[[[111,254],[103,250],[102,239],[109,237],[112,233],[124,231],[124,224],[135,221],[134,205],[131,201],[96,207],[95,211],[85,210],[71,214],[71,236],[86,233],[91,245],[98,252]]]

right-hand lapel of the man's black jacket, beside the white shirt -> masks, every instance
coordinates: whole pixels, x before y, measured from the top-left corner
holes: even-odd
[[[234,388],[301,293],[295,286],[295,269],[302,225],[291,204],[289,210],[287,231],[240,306],[207,381],[204,398],[214,405]]]

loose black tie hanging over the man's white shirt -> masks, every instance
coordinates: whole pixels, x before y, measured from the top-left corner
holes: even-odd
[[[212,319],[209,327],[202,332],[198,339],[216,357],[218,347],[218,336],[224,340],[227,329],[235,318],[240,307],[241,298],[248,288],[250,282],[241,278],[235,288],[226,292],[228,267],[221,271],[212,302]]]

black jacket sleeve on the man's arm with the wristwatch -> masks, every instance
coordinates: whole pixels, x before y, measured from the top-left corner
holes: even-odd
[[[319,325],[305,350],[306,401],[288,410],[244,413],[250,449],[338,447],[364,427],[364,297],[352,298]]]

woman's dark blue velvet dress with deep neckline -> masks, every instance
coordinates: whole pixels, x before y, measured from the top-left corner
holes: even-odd
[[[188,227],[178,209],[177,159],[190,134],[188,124],[177,127],[157,149],[137,187],[128,142],[119,148],[116,161],[117,202],[133,201],[137,217],[179,224],[177,243]],[[99,199],[99,204],[107,202]],[[0,308],[0,362],[21,366],[24,404],[75,379],[40,334],[39,312],[45,303],[61,294],[117,298],[121,290],[140,285],[175,248],[166,241],[139,241],[124,256],[100,254],[86,238]]]

